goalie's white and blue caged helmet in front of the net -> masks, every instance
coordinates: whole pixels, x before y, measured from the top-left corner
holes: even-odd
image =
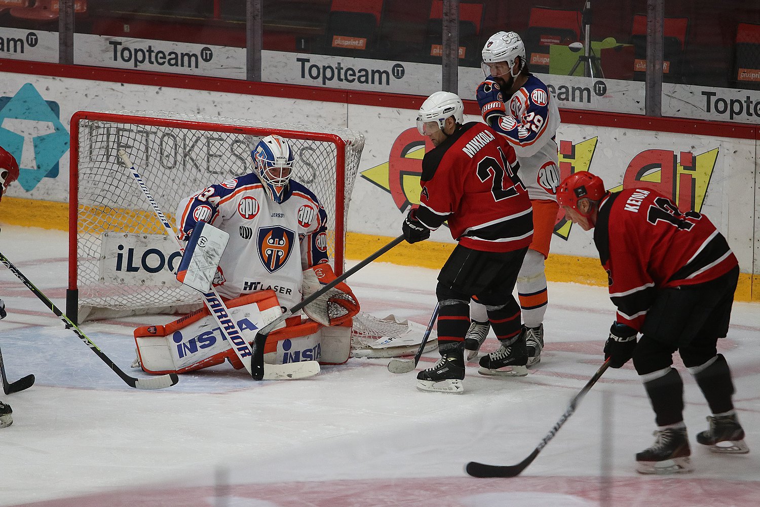
[[[282,202],[293,170],[290,144],[279,135],[268,135],[258,141],[251,151],[251,157],[269,197],[274,202]]]

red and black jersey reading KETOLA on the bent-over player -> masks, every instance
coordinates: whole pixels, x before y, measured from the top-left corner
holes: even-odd
[[[658,289],[702,284],[739,264],[708,217],[682,213],[652,190],[626,189],[604,198],[594,242],[609,276],[617,320],[636,330]]]

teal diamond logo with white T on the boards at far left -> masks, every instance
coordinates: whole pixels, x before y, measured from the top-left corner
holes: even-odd
[[[13,97],[0,97],[0,146],[18,161],[18,184],[27,192],[43,178],[57,177],[68,151],[58,103],[43,99],[31,83]]]

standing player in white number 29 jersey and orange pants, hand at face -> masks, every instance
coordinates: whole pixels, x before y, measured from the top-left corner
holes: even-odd
[[[544,261],[554,232],[559,206],[559,157],[555,139],[559,109],[546,84],[530,74],[525,46],[515,32],[494,33],[483,46],[486,80],[477,88],[483,120],[515,148],[518,175],[533,205],[534,236],[518,274],[518,299],[523,332],[530,356],[527,366],[539,363],[543,349],[543,317],[549,301]],[[477,350],[486,339],[486,310],[470,306],[473,322],[465,346]]]

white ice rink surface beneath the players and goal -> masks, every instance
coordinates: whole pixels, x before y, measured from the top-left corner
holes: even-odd
[[[3,227],[0,252],[65,309],[66,234]],[[382,260],[382,258],[381,258]],[[348,280],[363,310],[426,324],[437,272],[375,262]],[[707,404],[685,382],[695,471],[636,474],[654,440],[654,414],[633,367],[609,369],[575,414],[513,479],[475,479],[467,461],[517,464],[546,436],[603,362],[614,309],[603,287],[550,284],[542,361],[524,378],[478,375],[463,395],[417,391],[416,372],[351,359],[311,379],[255,382],[220,365],[160,391],[129,388],[0,266],[0,347],[9,381],[32,388],[0,399],[0,505],[275,507],[435,505],[760,505],[760,305],[735,303],[718,344],[733,372],[749,455],[714,455],[695,442]],[[81,326],[129,375],[132,331],[168,315]],[[491,334],[483,345],[498,347]],[[432,365],[423,356],[418,369]]]

